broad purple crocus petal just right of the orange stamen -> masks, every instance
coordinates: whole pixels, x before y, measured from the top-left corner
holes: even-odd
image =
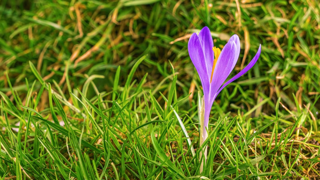
[[[235,67],[236,63],[236,43],[228,42],[222,49],[218,58],[217,64],[213,71],[212,81],[210,85],[210,104],[214,101],[214,95],[217,93],[223,82],[228,78],[230,72]],[[210,107],[211,107],[210,106]]]

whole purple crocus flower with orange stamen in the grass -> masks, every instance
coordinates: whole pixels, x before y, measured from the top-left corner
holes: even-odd
[[[252,68],[260,56],[261,45],[252,61],[226,83],[224,81],[235,67],[240,53],[240,40],[236,34],[229,39],[220,51],[219,48],[213,46],[209,28],[204,27],[198,35],[196,33],[191,35],[188,42],[188,51],[203,87],[204,124],[201,127],[201,134],[204,141],[207,138],[206,127],[208,127],[210,110],[215,98],[224,87]]]

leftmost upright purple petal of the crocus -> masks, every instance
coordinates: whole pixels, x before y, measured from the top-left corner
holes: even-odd
[[[210,91],[209,77],[206,69],[204,52],[201,46],[200,38],[196,33],[193,33],[189,39],[188,52],[190,59],[199,74],[204,96],[205,98],[208,98]]]

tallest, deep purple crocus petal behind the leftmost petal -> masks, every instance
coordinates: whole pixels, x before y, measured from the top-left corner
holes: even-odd
[[[204,52],[204,59],[207,67],[207,73],[208,73],[208,77],[210,76],[209,77],[210,79],[211,72],[212,72],[213,58],[214,58],[213,51],[212,51],[213,40],[212,40],[210,29],[205,26],[204,28],[201,29],[198,36],[200,38],[200,42]]]

